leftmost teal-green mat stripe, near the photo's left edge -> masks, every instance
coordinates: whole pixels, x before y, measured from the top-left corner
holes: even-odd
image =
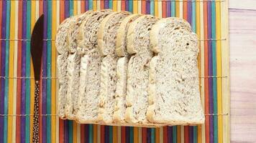
[[[10,5],[11,1],[7,1],[6,5],[6,39],[10,38]],[[5,46],[5,76],[9,77],[9,41],[6,41]],[[4,87],[4,114],[8,114],[8,92],[9,92],[9,80],[5,80]],[[7,116],[4,117],[4,143],[7,142]],[[2,125],[1,125],[2,126]]]

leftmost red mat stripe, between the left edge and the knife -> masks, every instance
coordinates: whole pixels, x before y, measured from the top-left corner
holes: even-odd
[[[22,39],[22,1],[19,1],[19,17],[18,17],[18,39]],[[18,41],[18,57],[17,57],[17,77],[22,77],[22,41]],[[21,97],[22,80],[17,79],[17,114],[21,114]],[[16,142],[21,142],[20,139],[20,117],[16,117]]]

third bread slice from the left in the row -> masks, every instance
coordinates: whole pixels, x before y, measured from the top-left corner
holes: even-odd
[[[97,48],[97,32],[101,21],[111,13],[109,9],[93,11],[80,26],[78,52],[82,54],[81,87],[76,114],[79,123],[96,123],[98,118],[102,58]]]

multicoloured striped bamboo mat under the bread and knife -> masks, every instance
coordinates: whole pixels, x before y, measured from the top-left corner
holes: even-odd
[[[30,35],[45,14],[40,142],[230,142],[227,0],[0,1],[0,142],[32,142],[35,80]],[[89,9],[186,19],[200,39],[201,102],[206,122],[156,129],[76,124],[58,119],[55,34],[61,21]]]

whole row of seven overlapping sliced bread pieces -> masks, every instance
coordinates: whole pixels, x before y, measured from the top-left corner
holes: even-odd
[[[183,19],[86,11],[56,35],[58,115],[134,127],[203,124],[198,39]]]

